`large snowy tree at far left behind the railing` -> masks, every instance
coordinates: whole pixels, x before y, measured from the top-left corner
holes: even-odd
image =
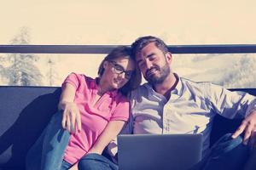
[[[26,45],[30,37],[28,29],[23,27],[20,33],[11,40],[11,44]],[[35,54],[8,54],[5,77],[9,79],[9,85],[38,86],[42,84],[42,74],[35,62],[38,56]]]

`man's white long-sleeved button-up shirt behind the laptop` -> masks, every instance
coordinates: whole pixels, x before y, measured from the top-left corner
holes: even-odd
[[[180,77],[169,100],[145,83],[131,92],[131,119],[124,133],[202,133],[204,156],[216,114],[242,118],[254,109],[255,96],[230,92],[211,82]]]

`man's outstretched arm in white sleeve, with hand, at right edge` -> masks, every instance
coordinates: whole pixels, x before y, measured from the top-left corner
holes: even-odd
[[[244,133],[243,143],[249,142],[254,145],[256,142],[256,97],[243,92],[230,92],[217,85],[212,85],[209,89],[209,100],[213,109],[220,115],[227,118],[244,117],[232,138]]]

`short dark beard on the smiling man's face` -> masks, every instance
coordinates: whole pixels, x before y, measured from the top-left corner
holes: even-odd
[[[156,75],[156,74],[150,75],[150,71],[152,71],[153,69],[158,71],[159,75]],[[148,69],[148,71],[146,71],[146,76],[144,78],[151,85],[160,84],[160,83],[162,83],[162,82],[164,82],[166,80],[166,77],[169,76],[170,72],[171,72],[171,68],[170,68],[170,66],[167,63],[166,63],[166,65],[164,65],[161,68],[160,68],[160,66],[155,65],[152,68]]]

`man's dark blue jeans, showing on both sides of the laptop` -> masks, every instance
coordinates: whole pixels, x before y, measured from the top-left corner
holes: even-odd
[[[211,151],[191,170],[241,170],[249,156],[249,147],[242,144],[242,138],[231,138],[231,133],[225,134],[215,144]],[[113,167],[112,167],[113,165]],[[79,161],[79,170],[116,170],[118,167],[107,158],[96,154],[84,156]]]

